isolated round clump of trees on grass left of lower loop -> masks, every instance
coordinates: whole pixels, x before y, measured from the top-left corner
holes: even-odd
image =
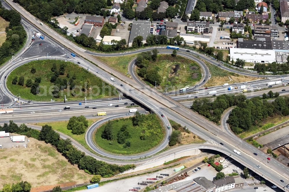
[[[83,115],[79,117],[72,116],[67,123],[67,129],[71,130],[71,133],[75,135],[84,133],[86,128],[88,128],[88,121]]]

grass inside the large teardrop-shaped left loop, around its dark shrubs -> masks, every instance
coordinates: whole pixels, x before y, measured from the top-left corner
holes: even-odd
[[[14,69],[10,75],[7,77],[7,87],[11,91],[12,94],[17,95],[20,94],[20,97],[23,99],[34,100],[34,101],[50,101],[53,97],[51,91],[53,91],[54,83],[50,82],[50,78],[53,75],[51,71],[52,64],[55,63],[57,69],[59,70],[60,64],[65,64],[65,74],[60,75],[59,77],[66,78],[67,74],[69,74],[69,78],[75,76],[75,89],[69,90],[64,89],[60,90],[60,97],[53,98],[55,101],[63,101],[64,95],[69,100],[79,100],[84,99],[97,99],[103,97],[111,97],[118,95],[117,91],[114,91],[114,87],[109,84],[103,82],[100,78],[88,72],[86,69],[79,67],[78,65],[71,62],[64,62],[60,60],[38,60],[26,63]],[[36,73],[32,74],[30,72],[31,68],[34,67],[36,69]],[[39,94],[33,95],[30,93],[31,88],[24,86],[20,86],[18,84],[12,84],[12,80],[15,76],[24,76],[24,81],[31,79],[34,82],[36,77],[41,77]],[[69,78],[66,78],[67,80]],[[89,82],[90,89],[88,91],[82,91],[82,86]],[[111,91],[110,91],[111,90]],[[75,96],[72,93],[75,93]]]

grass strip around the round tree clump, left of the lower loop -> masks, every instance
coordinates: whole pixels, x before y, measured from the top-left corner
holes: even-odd
[[[87,119],[88,127],[90,127],[90,125],[92,125],[92,123],[94,123],[95,121],[99,121],[99,120],[101,120],[101,119],[100,118]],[[66,128],[67,127],[67,123],[68,123],[68,121],[67,122],[66,121],[54,121],[54,122],[37,123],[37,124],[34,124],[34,125],[43,126],[43,125],[47,125],[48,124],[48,125],[50,125],[52,127],[52,129],[68,135],[69,137],[73,138],[75,141],[77,141],[81,145],[83,145],[85,148],[90,150],[90,147],[88,147],[88,145],[86,144],[86,141],[85,141],[85,133],[83,133],[81,135],[72,134],[71,130],[68,130]]]

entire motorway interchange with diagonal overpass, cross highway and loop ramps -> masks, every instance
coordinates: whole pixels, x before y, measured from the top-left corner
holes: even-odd
[[[84,68],[90,69],[90,72],[92,74],[95,74],[96,76],[100,77],[102,80],[105,82],[108,82],[109,84],[112,84],[113,86],[116,87],[119,91],[122,93],[128,95],[130,98],[123,98],[123,100],[118,101],[117,98],[110,98],[110,100],[107,99],[99,99],[99,100],[93,100],[93,101],[87,101],[87,105],[91,108],[93,106],[97,106],[98,109],[105,109],[108,111],[108,118],[105,118],[101,120],[100,122],[96,122],[92,128],[97,127],[100,125],[102,121],[107,121],[109,118],[116,118],[116,117],[121,117],[121,116],[126,116],[125,114],[128,112],[128,108],[125,108],[121,103],[124,103],[124,101],[129,101],[131,102],[137,102],[140,103],[140,105],[144,105],[147,108],[151,109],[152,112],[160,116],[161,114],[164,114],[164,118],[161,118],[164,125],[168,124],[168,118],[176,121],[177,123],[180,123],[182,126],[188,127],[190,131],[193,133],[197,134],[207,142],[205,144],[190,144],[186,146],[180,146],[178,148],[174,148],[172,150],[167,150],[161,154],[151,156],[146,159],[140,159],[143,157],[147,157],[150,155],[153,155],[157,153],[158,151],[162,150],[167,144],[168,144],[168,136],[171,133],[171,129],[168,130],[166,129],[166,138],[164,141],[155,149],[149,151],[146,154],[138,154],[134,156],[118,156],[118,155],[112,155],[112,154],[106,154],[103,151],[99,152],[103,156],[110,157],[110,159],[106,159],[103,156],[97,156],[89,151],[86,151],[87,154],[94,156],[97,159],[104,160],[109,163],[117,163],[117,164],[126,164],[126,163],[136,163],[136,164],[141,164],[147,161],[150,161],[152,159],[156,158],[161,158],[165,155],[169,155],[172,153],[177,153],[182,150],[192,150],[195,148],[199,149],[214,149],[219,152],[225,153],[227,155],[231,155],[231,157],[241,164],[243,164],[246,167],[249,167],[251,170],[256,172],[257,174],[260,174],[262,177],[265,179],[269,180],[270,182],[274,183],[284,191],[289,191],[285,185],[289,183],[289,170],[287,169],[288,167],[285,168],[285,165],[275,162],[275,160],[272,161],[272,163],[266,163],[263,161],[259,161],[260,159],[255,159],[253,157],[253,153],[255,151],[258,151],[254,147],[250,146],[249,144],[243,142],[239,138],[236,137],[233,133],[231,133],[228,129],[225,129],[224,127],[221,129],[214,123],[208,121],[207,119],[203,118],[202,116],[192,112],[191,110],[188,110],[185,108],[181,103],[178,103],[177,100],[184,100],[187,97],[187,95],[176,95],[178,91],[174,92],[168,92],[167,95],[164,95],[162,93],[159,93],[158,91],[155,91],[154,89],[151,89],[149,86],[146,86],[143,84],[141,80],[139,80],[134,74],[134,67],[133,67],[133,62],[131,65],[129,65],[129,72],[133,78],[128,78],[124,76],[123,74],[120,74],[118,71],[115,71],[114,69],[108,67],[107,65],[103,65],[100,61],[92,57],[91,55],[97,55],[97,56],[120,56],[120,55],[125,55],[125,54],[133,54],[133,53],[138,53],[138,52],[143,52],[147,50],[151,50],[152,48],[147,48],[147,49],[142,49],[142,50],[135,50],[135,51],[130,51],[130,52],[125,52],[125,53],[116,53],[116,54],[102,54],[102,53],[93,53],[84,50],[83,48],[80,48],[76,46],[75,44],[71,44],[70,42],[66,41],[64,37],[61,37],[61,35],[51,31],[49,27],[46,25],[43,26],[38,26],[38,19],[35,18],[34,16],[30,15],[27,13],[25,10],[23,10],[22,7],[19,5],[13,3],[12,1],[8,0],[7,1],[10,5],[13,6],[16,11],[20,12],[23,16],[22,22],[23,24],[27,26],[31,26],[29,28],[25,29],[35,29],[36,31],[39,31],[40,33],[45,34],[46,40],[45,40],[45,48],[40,48],[39,46],[36,46],[37,43],[35,42],[34,44],[28,45],[26,43],[25,49],[23,49],[21,52],[19,52],[18,57],[14,57],[11,61],[6,63],[1,67],[1,72],[0,72],[0,80],[1,80],[1,103],[6,104],[5,106],[10,106],[16,96],[13,96],[11,93],[6,88],[5,83],[5,76],[7,76],[14,68],[16,68],[19,65],[22,65],[24,63],[27,63],[29,61],[35,60],[35,59],[63,59],[63,60],[69,60],[74,63],[80,62],[80,66]],[[7,3],[2,1],[2,4],[4,7],[9,7]],[[34,25],[37,26],[33,27]],[[42,32],[44,31],[44,32]],[[29,32],[28,32],[29,34]],[[29,34],[29,37],[31,37],[31,33]],[[28,40],[29,40],[28,37]],[[70,45],[68,45],[70,44]],[[28,46],[28,48],[27,48]],[[43,50],[41,50],[43,49]],[[59,50],[54,51],[53,50]],[[164,50],[164,47],[158,47],[160,53],[170,53],[170,51]],[[198,58],[201,58],[207,62],[210,62],[214,65],[218,65],[219,63],[209,59],[208,57],[203,56],[202,54],[199,54],[197,52],[190,52],[186,53],[186,49],[180,49],[179,54],[184,55],[185,57],[188,57],[189,59],[193,59],[197,63],[199,63],[202,66],[203,72],[205,73],[203,75],[203,79],[208,80],[210,77],[209,71],[206,71],[208,68],[205,66],[205,64],[202,65],[203,61],[199,60]],[[30,53],[29,53],[30,52]],[[36,54],[38,52],[38,54]],[[50,52],[50,53],[49,53]],[[76,58],[67,58],[70,54],[70,52],[75,52],[77,54]],[[48,56],[47,56],[47,53]],[[197,55],[198,57],[195,57],[193,55]],[[90,63],[89,61],[92,63]],[[97,64],[98,66],[94,65]],[[265,88],[265,84],[267,81],[272,81],[272,80],[281,80],[280,76],[261,76],[257,74],[248,74],[245,72],[240,72],[236,71],[234,69],[227,68],[223,65],[219,66],[227,71],[231,72],[236,72],[238,74],[243,74],[243,75],[249,75],[249,76],[254,76],[254,77],[267,77],[267,78],[272,78],[272,79],[266,79],[266,80],[261,80],[261,81],[255,81],[255,82],[248,82],[246,86],[251,86],[253,89],[257,88]],[[99,71],[99,73],[96,73],[96,71]],[[115,78],[115,82],[110,81],[110,78],[112,75]],[[202,80],[203,80],[202,79]],[[284,78],[284,82],[288,82],[287,76]],[[120,86],[120,84],[123,84],[124,86]],[[201,87],[204,85],[205,82],[201,81],[198,87]],[[241,85],[241,84],[239,84]],[[239,85],[234,85],[234,86],[239,86]],[[199,95],[199,96],[205,96],[208,95],[207,91],[209,90],[218,90],[217,94],[221,93],[227,93],[226,91],[227,87],[222,87],[222,86],[217,86],[214,88],[208,88],[204,90],[203,88],[196,88],[194,85],[190,85],[190,90],[187,91],[186,93],[190,93],[190,95]],[[276,88],[278,91],[281,88]],[[269,91],[269,90],[268,90]],[[267,92],[268,92],[267,91]],[[193,93],[192,93],[193,92]],[[197,93],[194,93],[197,92]],[[240,92],[240,89],[236,89],[231,91],[231,93],[237,93]],[[260,95],[260,91],[257,92],[252,92],[251,94],[256,94]],[[176,95],[176,96],[171,96],[168,97],[168,95]],[[262,95],[262,94],[261,94]],[[175,101],[175,100],[176,101]],[[101,101],[100,101],[101,100]],[[21,102],[28,103],[30,106],[21,106],[21,109],[14,109],[14,114],[12,115],[1,115],[0,119],[2,123],[8,122],[9,120],[12,119],[15,122],[18,123],[28,123],[28,122],[47,122],[47,121],[60,121],[60,120],[67,120],[69,117],[71,117],[73,114],[84,114],[85,116],[90,118],[92,117],[92,114],[95,113],[94,110],[91,110],[90,108],[84,108],[84,106],[77,106],[79,101],[74,101],[74,102],[68,102],[68,103],[61,103],[61,102],[38,102],[38,101],[26,101],[25,99],[21,99]],[[84,102],[84,101],[81,101]],[[114,106],[108,108],[107,104],[113,102],[113,105],[115,104],[121,104],[121,107],[116,109],[113,108]],[[33,104],[33,105],[31,105]],[[71,110],[69,112],[64,111],[58,112],[59,109],[63,108],[65,105],[71,105]],[[73,107],[72,107],[73,106]],[[30,112],[35,111],[35,114],[30,114]],[[141,112],[144,112],[144,110],[140,110]],[[110,113],[111,112],[111,113]],[[61,115],[59,115],[61,113]],[[110,113],[110,114],[109,114]],[[223,120],[222,120],[223,121]],[[222,126],[224,126],[224,123],[222,123]],[[91,132],[90,130],[86,133],[86,138],[87,142],[90,141],[89,138],[91,138]],[[222,146],[219,143],[222,142],[225,145]],[[88,143],[93,148],[93,143]],[[238,149],[241,151],[242,155],[239,156],[236,153],[233,152],[233,149]],[[94,148],[95,149],[95,148]],[[85,150],[85,149],[82,149]],[[95,149],[97,150],[97,149]],[[258,151],[258,155],[260,157],[266,156],[266,154],[262,153],[261,151]],[[125,161],[130,159],[131,161]],[[256,165],[260,165],[261,167],[258,168]],[[280,179],[285,180],[285,183],[280,182]]]

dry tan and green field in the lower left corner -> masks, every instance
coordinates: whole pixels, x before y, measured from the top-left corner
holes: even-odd
[[[1,185],[28,181],[33,192],[89,182],[91,176],[71,165],[50,144],[29,138],[28,148],[0,150]]]

